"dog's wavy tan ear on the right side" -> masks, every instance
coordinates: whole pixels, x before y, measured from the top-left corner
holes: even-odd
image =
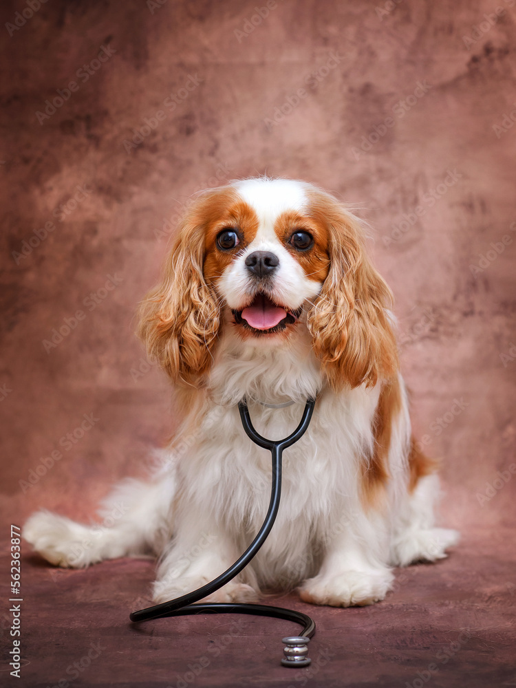
[[[358,219],[331,196],[317,195],[312,215],[329,235],[330,270],[308,312],[314,352],[334,389],[366,387],[398,368],[387,308],[392,295],[365,252]]]

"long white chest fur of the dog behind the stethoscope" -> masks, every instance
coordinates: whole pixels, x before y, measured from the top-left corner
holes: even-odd
[[[271,458],[246,435],[237,403],[245,396],[255,429],[281,439],[297,427],[306,398],[318,394],[308,431],[283,453],[277,522],[254,563],[264,582],[310,575],[323,554],[322,534],[327,537],[332,524],[348,526],[361,513],[359,462],[367,460],[374,442],[378,390],[360,387],[336,394],[321,383],[319,364],[303,351],[303,341],[297,345],[261,355],[236,355],[230,346],[221,347],[225,353],[213,366],[204,409],[193,411],[202,422],[197,428],[189,424],[183,438],[189,447],[178,463],[183,498],[208,510],[243,551],[266,515]],[[260,403],[289,398],[295,402],[285,408]],[[265,561],[267,567],[261,566]]]

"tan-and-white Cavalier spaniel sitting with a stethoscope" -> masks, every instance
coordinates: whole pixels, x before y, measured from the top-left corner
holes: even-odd
[[[394,567],[442,559],[458,541],[434,524],[436,464],[411,436],[390,309],[361,223],[330,193],[265,177],[198,194],[141,311],[148,354],[176,385],[175,439],[149,482],[125,480],[103,503],[101,518],[125,504],[118,519],[86,526],[41,510],[25,539],[58,566],[151,553],[156,602],[196,590],[239,557],[268,508],[270,453],[246,436],[238,402],[279,439],[316,398],[283,456],[272,532],[207,600],[294,589],[319,605],[384,599]]]

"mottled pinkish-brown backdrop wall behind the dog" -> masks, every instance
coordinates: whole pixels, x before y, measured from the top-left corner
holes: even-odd
[[[31,1],[0,25],[3,516],[144,473],[177,409],[138,301],[189,196],[266,172],[369,223],[447,521],[510,524],[515,0]]]

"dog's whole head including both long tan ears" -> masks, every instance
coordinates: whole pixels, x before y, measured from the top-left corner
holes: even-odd
[[[234,182],[197,197],[140,335],[173,380],[199,384],[222,327],[243,343],[286,345],[308,328],[335,389],[393,374],[389,288],[365,254],[356,217],[305,182]]]

